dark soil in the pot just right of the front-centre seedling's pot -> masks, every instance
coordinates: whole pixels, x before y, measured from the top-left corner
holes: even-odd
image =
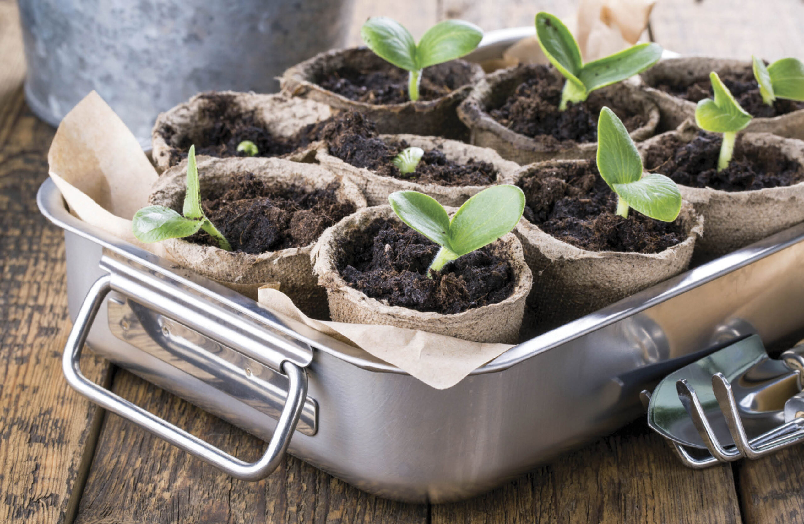
[[[615,215],[615,194],[593,161],[545,168],[518,183],[525,218],[542,231],[589,251],[658,253],[687,238],[679,220],[667,223],[630,210]]]

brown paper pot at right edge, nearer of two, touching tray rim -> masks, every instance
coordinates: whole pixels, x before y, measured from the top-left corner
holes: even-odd
[[[699,129],[685,122],[638,144],[642,158],[654,146],[677,138],[682,143],[695,139]],[[804,166],[804,142],[770,133],[743,133],[737,137],[735,157],[745,148],[773,148],[778,154]],[[649,167],[650,166],[646,166]],[[656,170],[661,173],[661,168]],[[804,222],[804,182],[794,186],[770,187],[753,191],[722,191],[679,185],[683,199],[704,215],[706,230],[695,246],[696,257],[704,260],[743,248],[782,229]]]

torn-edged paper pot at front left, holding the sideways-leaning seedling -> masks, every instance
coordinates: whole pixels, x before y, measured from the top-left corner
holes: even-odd
[[[320,166],[281,158],[201,157],[198,168],[202,195],[224,190],[236,174],[253,173],[273,187],[301,186],[317,190],[326,188],[331,182],[340,182],[336,191],[338,199],[351,202],[358,208],[366,206],[366,199],[354,183]],[[186,178],[187,162],[167,170],[154,185],[150,203],[181,210]],[[256,300],[260,286],[278,282],[280,291],[288,295],[306,315],[326,318],[326,293],[318,287],[318,279],[310,264],[313,244],[259,255],[227,252],[183,239],[165,240],[162,244],[176,263],[217,280],[247,297]]]

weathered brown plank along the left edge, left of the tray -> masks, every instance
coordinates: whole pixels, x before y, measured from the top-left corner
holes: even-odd
[[[71,326],[64,236],[35,203],[53,130],[28,111],[19,85],[0,105],[0,522],[65,522],[98,414],[61,372]],[[104,369],[84,359],[88,377]]]

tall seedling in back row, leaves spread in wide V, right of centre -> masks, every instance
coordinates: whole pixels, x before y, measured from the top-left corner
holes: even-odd
[[[595,89],[626,80],[662,58],[662,47],[658,43],[640,43],[584,63],[572,33],[558,18],[544,11],[536,14],[536,38],[550,63],[567,79],[561,92],[561,111],[567,108],[568,102],[583,102]]]

